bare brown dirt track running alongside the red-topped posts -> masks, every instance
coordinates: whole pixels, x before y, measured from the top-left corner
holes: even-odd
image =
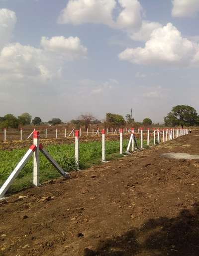
[[[198,133],[1,201],[0,256],[199,256]]]

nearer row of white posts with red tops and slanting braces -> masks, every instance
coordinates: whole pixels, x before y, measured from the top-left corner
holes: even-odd
[[[125,152],[123,152],[123,133],[124,129],[119,129],[119,138],[120,138],[120,145],[119,145],[119,153],[122,154],[131,154],[130,152],[133,152],[136,150],[143,150],[143,139],[144,135],[147,136],[147,145],[150,145],[150,135],[153,137],[153,144],[156,144],[156,137],[157,137],[157,144],[161,142],[161,135],[163,139],[163,143],[167,140],[173,140],[177,139],[178,137],[184,136],[189,134],[189,130],[186,129],[163,129],[160,131],[160,129],[155,129],[153,132],[150,132],[150,129],[148,128],[146,132],[144,132],[143,128],[139,128],[140,130],[140,147],[138,146],[137,139],[134,133],[134,128],[129,129],[130,139],[128,142],[128,146]],[[79,159],[80,159],[80,131],[72,131],[75,133],[75,161],[77,168],[79,168]],[[117,130],[116,130],[117,132]],[[99,131],[100,133],[100,131]],[[102,138],[102,148],[101,148],[101,161],[106,162],[105,159],[105,130],[101,130],[101,138]],[[169,136],[167,136],[169,134]],[[19,172],[22,170],[22,168],[25,166],[27,161],[30,159],[30,157],[33,155],[33,184],[35,186],[39,186],[39,172],[40,172],[40,161],[39,161],[39,152],[41,152],[47,160],[55,167],[55,169],[65,178],[69,177],[69,173],[64,172],[64,170],[59,166],[59,164],[50,156],[50,154],[43,148],[42,144],[40,144],[40,134],[38,131],[33,131],[33,145],[28,149],[26,154],[23,156],[23,158],[20,160],[20,162],[17,164],[15,169],[12,171],[12,173],[9,175],[7,180],[4,182],[4,184],[0,188],[0,198],[4,196],[4,194],[7,192],[8,188],[13,183],[14,179],[17,177]]]

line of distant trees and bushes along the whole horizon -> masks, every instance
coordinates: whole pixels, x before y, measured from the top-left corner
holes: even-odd
[[[6,114],[3,117],[0,117],[0,128],[18,128],[25,125],[40,125],[40,124],[49,124],[49,125],[59,125],[63,124],[60,118],[52,118],[47,123],[42,123],[40,117],[36,116],[32,119],[32,116],[29,113],[23,113],[18,117],[15,117],[12,114]],[[100,125],[103,123],[104,127],[138,127],[138,126],[150,126],[152,125],[152,120],[148,117],[144,118],[143,122],[135,122],[132,114],[126,114],[125,117],[115,113],[106,113],[104,120],[99,120],[90,113],[82,114],[77,119],[72,119],[70,122],[65,124],[73,125],[76,129],[79,129],[81,126],[84,126],[85,129],[89,128],[91,124]],[[159,125],[159,124],[156,124]],[[199,115],[191,106],[187,105],[177,105],[172,108],[171,112],[167,114],[164,118],[165,126],[194,126],[199,125]]]

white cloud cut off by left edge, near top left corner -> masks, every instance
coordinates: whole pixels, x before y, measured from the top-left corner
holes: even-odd
[[[15,12],[9,9],[0,9],[0,48],[9,42],[15,27]]]

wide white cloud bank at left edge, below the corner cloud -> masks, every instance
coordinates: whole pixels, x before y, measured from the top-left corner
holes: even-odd
[[[59,75],[63,61],[69,61],[87,54],[78,37],[42,37],[41,46],[35,48],[20,43],[12,43],[0,51],[0,71],[16,78],[40,77],[51,79]]]

